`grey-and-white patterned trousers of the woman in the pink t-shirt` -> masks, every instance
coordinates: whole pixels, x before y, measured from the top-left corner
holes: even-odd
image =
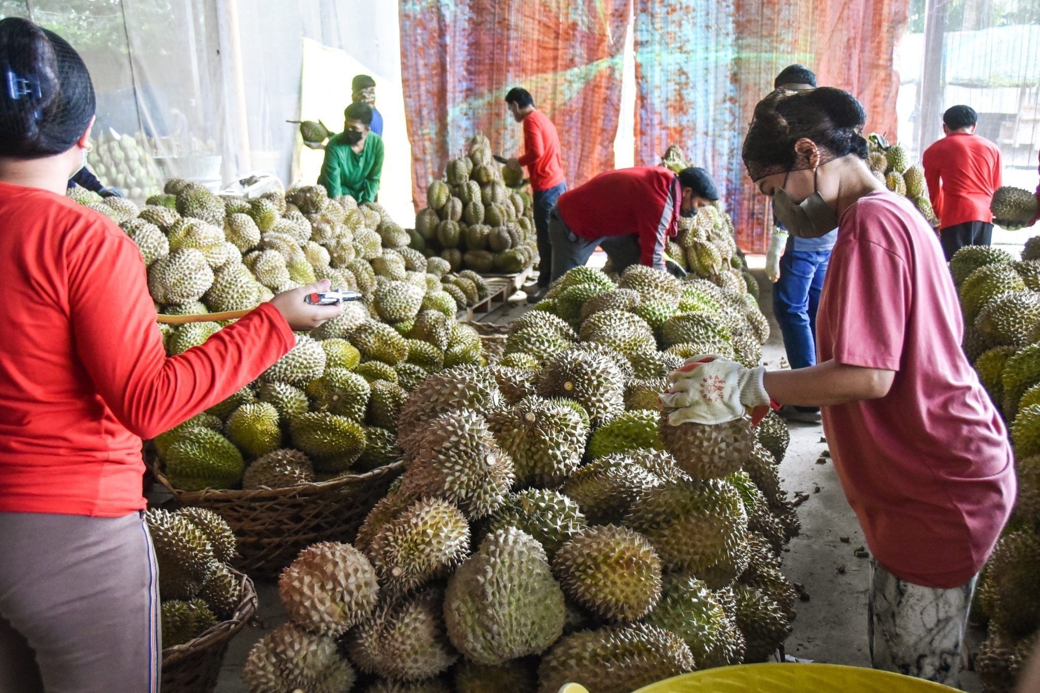
[[[867,641],[874,668],[957,688],[976,579],[952,589],[921,587],[872,558]]]

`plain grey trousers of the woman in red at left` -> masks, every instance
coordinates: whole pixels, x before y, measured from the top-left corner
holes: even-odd
[[[0,692],[154,693],[161,651],[141,513],[0,513]]]

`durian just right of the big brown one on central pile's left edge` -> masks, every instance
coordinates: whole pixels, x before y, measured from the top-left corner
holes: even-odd
[[[574,410],[539,397],[526,397],[511,409],[490,415],[488,427],[513,458],[522,485],[563,483],[580,465],[589,436]]]

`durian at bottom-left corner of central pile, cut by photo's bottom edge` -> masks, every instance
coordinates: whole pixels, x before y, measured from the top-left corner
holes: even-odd
[[[333,638],[308,633],[292,621],[253,645],[242,670],[250,693],[342,693],[356,677]]]

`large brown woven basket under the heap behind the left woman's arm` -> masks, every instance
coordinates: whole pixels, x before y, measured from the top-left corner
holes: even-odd
[[[365,515],[405,469],[378,470],[290,488],[175,488],[157,465],[155,478],[184,506],[208,508],[228,521],[238,540],[235,567],[256,580],[277,578],[303,549],[318,541],[354,541]]]

